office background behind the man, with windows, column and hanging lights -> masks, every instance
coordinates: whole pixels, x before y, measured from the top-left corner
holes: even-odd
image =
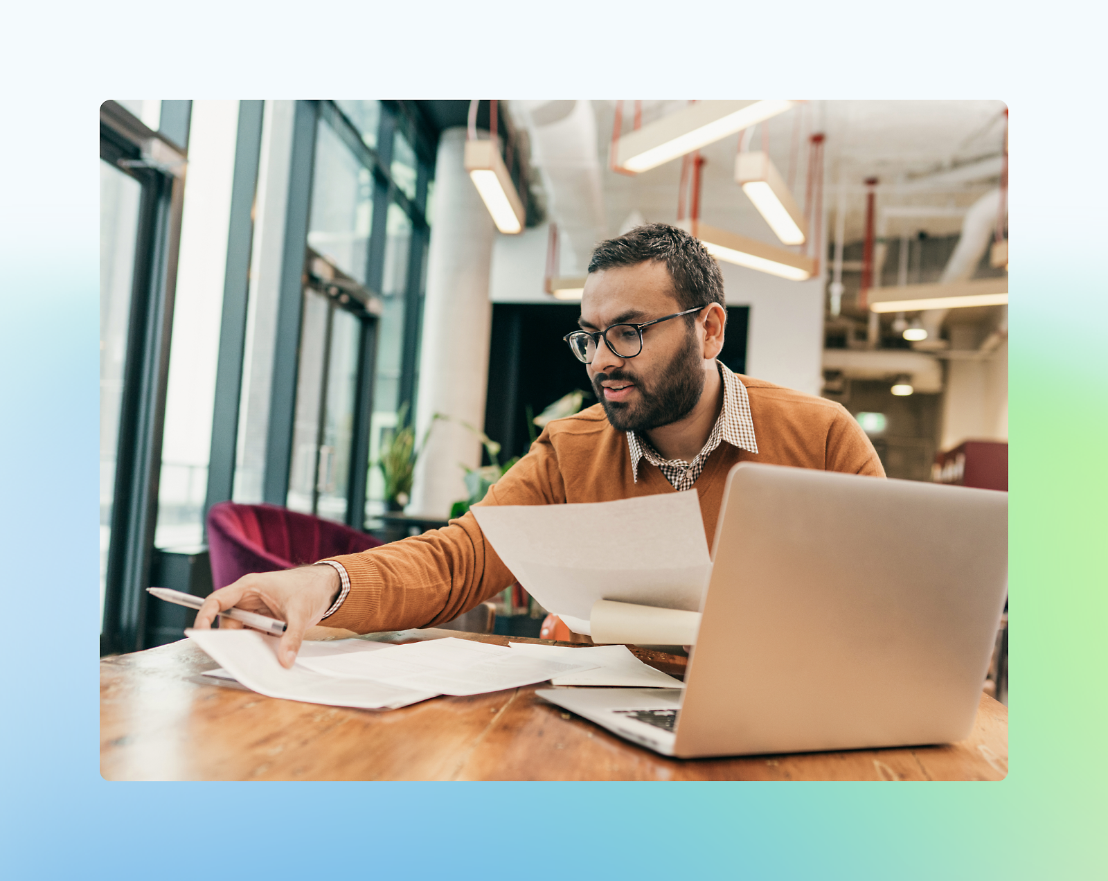
[[[732,370],[842,403],[891,478],[1007,489],[1001,102],[120,100],[101,160],[102,655],[181,638],[146,586],[222,586],[216,505],[384,542],[479,500],[595,403],[561,338],[643,223],[719,258]],[[525,588],[480,626],[540,635]]]

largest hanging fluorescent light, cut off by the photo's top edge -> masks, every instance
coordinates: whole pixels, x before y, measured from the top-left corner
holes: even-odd
[[[613,164],[640,174],[729,134],[784,113],[796,101],[697,101],[623,135]]]

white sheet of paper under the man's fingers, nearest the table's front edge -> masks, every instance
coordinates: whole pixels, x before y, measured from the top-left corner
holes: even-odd
[[[267,697],[361,709],[396,708],[440,694],[431,689],[398,688],[368,679],[326,676],[294,665],[285,669],[277,660],[276,636],[257,631],[193,631],[185,634],[236,680]],[[359,641],[363,642],[363,641]],[[392,648],[394,646],[384,646]],[[368,656],[369,652],[357,652]]]

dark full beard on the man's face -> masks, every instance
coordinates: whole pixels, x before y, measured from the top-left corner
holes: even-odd
[[[609,401],[602,382],[623,379],[638,391],[634,401]],[[608,422],[617,431],[649,431],[678,422],[697,406],[704,393],[704,366],[695,345],[688,345],[658,371],[654,382],[639,373],[617,367],[593,377],[593,389],[604,406]]]

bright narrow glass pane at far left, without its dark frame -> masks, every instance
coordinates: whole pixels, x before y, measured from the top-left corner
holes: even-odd
[[[103,628],[107,549],[112,540],[115,457],[142,185],[100,163],[100,617]]]

